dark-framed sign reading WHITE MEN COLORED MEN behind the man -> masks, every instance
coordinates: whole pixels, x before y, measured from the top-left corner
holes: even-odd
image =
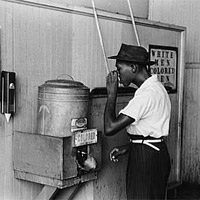
[[[149,45],[151,74],[157,74],[159,81],[168,92],[177,91],[178,48],[170,46]]]

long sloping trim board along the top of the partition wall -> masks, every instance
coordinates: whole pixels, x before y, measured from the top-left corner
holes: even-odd
[[[94,17],[92,7],[90,8],[90,7],[70,6],[70,5],[64,6],[59,3],[53,3],[53,2],[38,3],[38,1],[36,0],[32,0],[32,1],[1,0],[1,1]],[[98,14],[98,17],[101,19],[119,21],[119,22],[124,22],[124,23],[129,23],[129,24],[132,23],[131,17],[127,15],[106,12],[99,9],[97,9],[97,14]],[[139,26],[148,26],[148,27],[153,27],[153,28],[158,28],[158,29],[167,29],[167,30],[172,30],[172,31],[177,31],[177,32],[186,31],[186,27],[183,27],[183,26],[150,21],[147,19],[139,18],[139,17],[134,17],[134,19],[135,19],[135,24]]]

